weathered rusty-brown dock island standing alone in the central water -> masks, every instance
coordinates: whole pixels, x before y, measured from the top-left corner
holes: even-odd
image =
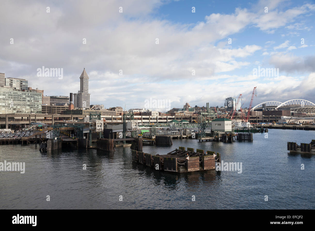
[[[132,150],[132,160],[154,168],[157,171],[185,173],[215,169],[215,163],[221,162],[221,154],[215,151],[204,151],[179,147],[166,155],[152,155]]]

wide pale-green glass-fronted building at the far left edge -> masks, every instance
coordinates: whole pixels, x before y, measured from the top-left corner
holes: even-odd
[[[42,113],[42,93],[0,87],[0,114]]]

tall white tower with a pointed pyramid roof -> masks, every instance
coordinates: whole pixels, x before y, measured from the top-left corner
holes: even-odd
[[[80,76],[80,91],[73,94],[73,104],[76,108],[90,108],[89,75],[86,73],[85,68]]]

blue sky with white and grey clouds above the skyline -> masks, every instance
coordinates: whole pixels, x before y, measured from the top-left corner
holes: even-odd
[[[0,72],[69,96],[85,68],[106,108],[315,102],[314,21],[315,1],[1,1]]]

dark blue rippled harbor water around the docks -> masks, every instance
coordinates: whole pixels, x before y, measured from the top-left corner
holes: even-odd
[[[174,139],[171,147],[143,146],[151,154],[178,146],[218,151],[225,162],[242,162],[241,174],[159,172],[132,162],[129,147],[49,155],[38,144],[2,145],[0,162],[25,162],[26,171],[0,172],[0,209],[315,209],[315,155],[287,151],[287,141],[311,139],[315,131],[269,129],[268,138],[257,133],[253,142]]]

